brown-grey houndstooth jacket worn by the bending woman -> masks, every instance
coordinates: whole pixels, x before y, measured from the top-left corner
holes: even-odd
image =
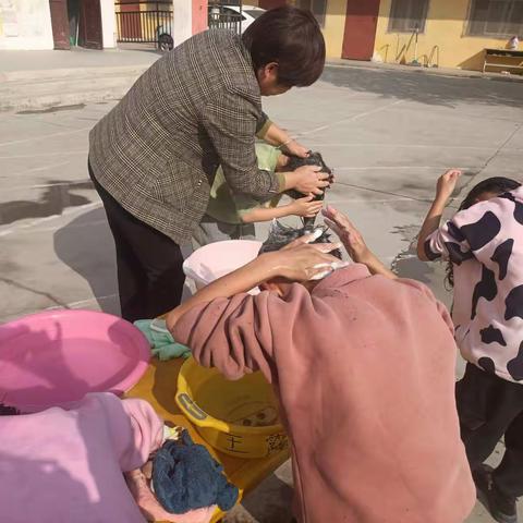
[[[230,187],[260,202],[281,178],[258,170],[255,134],[268,124],[248,51],[206,31],[159,59],[89,134],[98,182],[177,243],[199,223],[219,163]]]

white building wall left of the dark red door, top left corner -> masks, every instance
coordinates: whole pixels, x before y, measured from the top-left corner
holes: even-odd
[[[52,49],[49,0],[0,0],[0,49]]]

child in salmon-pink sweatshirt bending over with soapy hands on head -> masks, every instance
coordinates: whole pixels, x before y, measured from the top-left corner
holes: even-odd
[[[173,309],[168,327],[202,365],[273,384],[300,522],[461,523],[475,492],[450,317],[425,285],[394,279],[345,217],[325,215],[367,266],[315,281],[339,245],[282,241]]]

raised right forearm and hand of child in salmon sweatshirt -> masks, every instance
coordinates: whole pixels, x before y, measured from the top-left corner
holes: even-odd
[[[366,265],[372,275],[381,275],[391,280],[398,278],[394,272],[386,267],[367,247],[363,236],[345,215],[330,206],[324,209],[323,214],[325,216],[325,222],[338,234],[349,256],[356,264]]]

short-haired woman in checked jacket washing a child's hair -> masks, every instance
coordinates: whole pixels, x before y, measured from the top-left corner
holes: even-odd
[[[268,11],[242,37],[200,33],[158,60],[93,129],[89,174],[117,247],[122,316],[151,318],[180,303],[180,244],[207,208],[221,165],[234,193],[259,202],[289,188],[321,192],[316,167],[292,173],[257,168],[255,136],[306,156],[262,111],[260,96],[313,84],[325,64],[314,16]]]

